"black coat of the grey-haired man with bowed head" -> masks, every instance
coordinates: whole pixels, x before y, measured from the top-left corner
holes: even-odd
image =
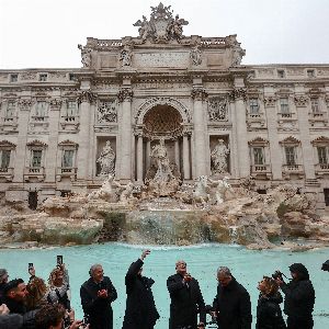
[[[235,277],[225,287],[218,284],[213,308],[217,313],[217,324],[220,329],[251,328],[250,296]]]

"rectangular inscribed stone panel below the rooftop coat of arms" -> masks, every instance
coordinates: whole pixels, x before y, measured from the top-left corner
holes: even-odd
[[[139,67],[188,67],[189,53],[135,54],[135,66]]]

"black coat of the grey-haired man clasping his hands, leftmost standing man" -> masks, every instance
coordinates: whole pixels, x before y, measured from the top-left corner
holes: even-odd
[[[98,292],[100,290],[107,290],[107,298],[98,297]],[[80,297],[83,313],[89,318],[90,329],[113,328],[113,310],[111,303],[117,298],[117,294],[107,276],[104,276],[100,284],[97,284],[92,277],[86,281],[81,285]]]

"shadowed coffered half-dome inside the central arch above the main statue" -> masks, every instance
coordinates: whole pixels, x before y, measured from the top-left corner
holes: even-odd
[[[156,105],[144,117],[144,136],[178,137],[182,135],[182,116],[169,105]]]

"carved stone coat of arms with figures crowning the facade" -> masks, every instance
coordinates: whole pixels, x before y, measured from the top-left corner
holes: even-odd
[[[151,7],[150,20],[147,21],[143,16],[143,21],[138,20],[134,26],[139,26],[138,33],[141,42],[147,39],[152,43],[168,43],[172,39],[180,42],[183,37],[183,25],[189,22],[180,19],[179,15],[172,16],[171,5],[163,5],[161,2],[158,7]]]

